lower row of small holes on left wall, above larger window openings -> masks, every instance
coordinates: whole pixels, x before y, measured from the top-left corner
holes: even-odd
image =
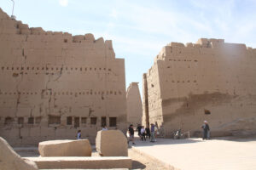
[[[41,93],[38,93],[38,92],[0,92],[0,95],[1,94],[5,94],[5,95],[7,95],[7,94],[9,94],[9,95],[12,95],[12,94],[26,94],[26,95],[29,95],[29,94],[31,94],[31,95],[33,95],[33,94],[40,94],[41,95]],[[99,92],[93,92],[93,91],[90,91],[90,92],[44,92],[44,94],[45,95],[84,95],[84,94],[87,94],[87,95],[92,95],[92,94],[114,94],[114,95],[117,95],[117,94],[119,94],[119,95],[121,95],[122,94],[122,92],[117,92],[117,91],[106,91],[106,92],[104,92],[104,91],[99,91]]]

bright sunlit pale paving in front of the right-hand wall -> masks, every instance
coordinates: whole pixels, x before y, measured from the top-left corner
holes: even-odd
[[[255,170],[256,138],[157,139],[132,149],[182,170]]]

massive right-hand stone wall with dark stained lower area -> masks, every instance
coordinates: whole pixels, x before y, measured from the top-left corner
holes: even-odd
[[[255,65],[256,49],[245,44],[206,38],[172,42],[144,75],[143,118],[148,109],[148,121],[162,125],[166,136],[179,128],[196,135],[204,120],[213,136],[253,133]]]

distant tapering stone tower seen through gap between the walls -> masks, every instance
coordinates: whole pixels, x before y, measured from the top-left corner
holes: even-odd
[[[133,124],[135,127],[137,124],[142,124],[143,103],[138,88],[138,82],[131,82],[130,86],[127,88],[126,100],[127,122]]]

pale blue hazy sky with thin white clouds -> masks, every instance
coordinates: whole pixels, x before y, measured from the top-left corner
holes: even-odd
[[[11,14],[11,0],[0,0]],[[15,0],[17,20],[45,31],[93,33],[125,58],[126,87],[169,42],[223,38],[256,48],[256,0]]]

